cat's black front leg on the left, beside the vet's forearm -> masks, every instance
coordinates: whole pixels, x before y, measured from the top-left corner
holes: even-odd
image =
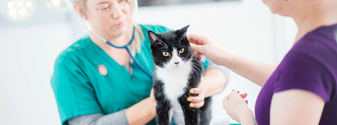
[[[170,125],[170,109],[171,105],[170,102],[166,99],[157,100],[157,106],[156,106],[156,121],[159,125]]]

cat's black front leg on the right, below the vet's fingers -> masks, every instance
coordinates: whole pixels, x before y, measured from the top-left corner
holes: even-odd
[[[200,109],[190,107],[190,102],[187,101],[188,95],[183,95],[178,98],[179,103],[182,106],[185,116],[186,125],[198,125],[200,122]]]

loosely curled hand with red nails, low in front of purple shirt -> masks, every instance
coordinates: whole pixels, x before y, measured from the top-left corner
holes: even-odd
[[[238,94],[239,91],[232,90],[222,100],[222,106],[226,110],[227,114],[237,122],[245,116],[254,116],[254,113],[248,108],[248,101],[244,100],[247,93]]]

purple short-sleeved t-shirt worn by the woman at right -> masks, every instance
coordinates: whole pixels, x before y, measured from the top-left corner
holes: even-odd
[[[319,124],[337,124],[337,24],[321,26],[299,39],[261,89],[255,105],[259,125],[269,124],[274,93],[302,89],[324,101]]]

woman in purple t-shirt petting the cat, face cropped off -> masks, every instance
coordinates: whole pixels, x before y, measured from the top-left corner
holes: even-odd
[[[241,124],[337,124],[337,0],[265,0],[292,17],[295,43],[279,65],[222,50],[207,36],[188,36],[192,48],[263,88],[254,113],[233,90],[223,108]]]

